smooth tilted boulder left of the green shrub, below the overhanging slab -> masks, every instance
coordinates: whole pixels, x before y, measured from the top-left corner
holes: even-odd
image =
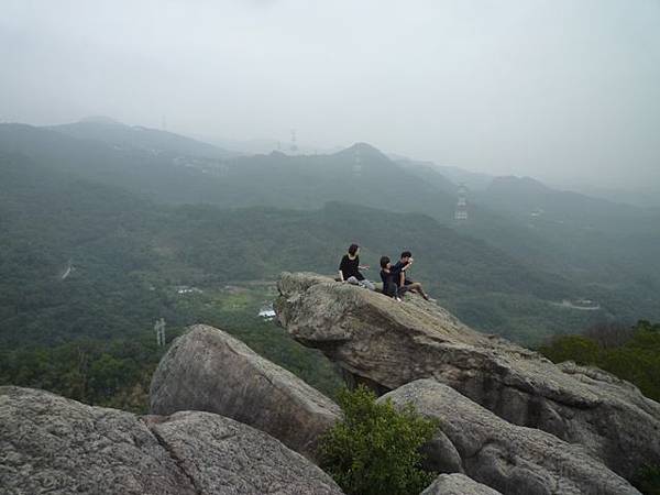
[[[339,418],[332,400],[213,327],[179,337],[152,378],[151,413],[216,413],[314,459],[318,437]]]

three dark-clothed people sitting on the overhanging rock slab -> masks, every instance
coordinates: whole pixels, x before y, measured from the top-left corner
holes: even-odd
[[[375,290],[373,282],[366,279],[360,272],[361,270],[369,270],[369,266],[362,266],[360,264],[360,246],[358,244],[351,244],[349,252],[344,254],[339,264],[339,279],[341,282],[348,282],[349,284],[360,285],[370,290]],[[418,293],[426,300],[429,300],[429,296],[424,292],[424,288],[419,282],[413,282],[408,277],[407,271],[413,265],[413,253],[410,251],[404,251],[400,258],[394,265],[389,257],[381,257],[381,280],[383,280],[383,294],[393,297],[396,300],[402,300],[402,296],[406,292]]]

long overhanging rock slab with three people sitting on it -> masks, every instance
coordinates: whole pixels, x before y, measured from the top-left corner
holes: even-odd
[[[314,274],[285,273],[278,288],[289,334],[356,381],[386,392],[433,378],[510,422],[584,446],[626,477],[660,464],[660,405],[612,375],[559,367],[421,298],[397,304]]]

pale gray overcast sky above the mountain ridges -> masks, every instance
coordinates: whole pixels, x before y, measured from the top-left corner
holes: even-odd
[[[660,189],[660,0],[0,0],[0,121]]]

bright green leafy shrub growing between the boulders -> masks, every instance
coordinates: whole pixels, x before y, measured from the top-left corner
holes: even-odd
[[[421,469],[419,448],[431,440],[437,422],[411,405],[376,403],[364,386],[339,393],[343,420],[320,441],[321,468],[348,495],[418,494],[436,477]]]

